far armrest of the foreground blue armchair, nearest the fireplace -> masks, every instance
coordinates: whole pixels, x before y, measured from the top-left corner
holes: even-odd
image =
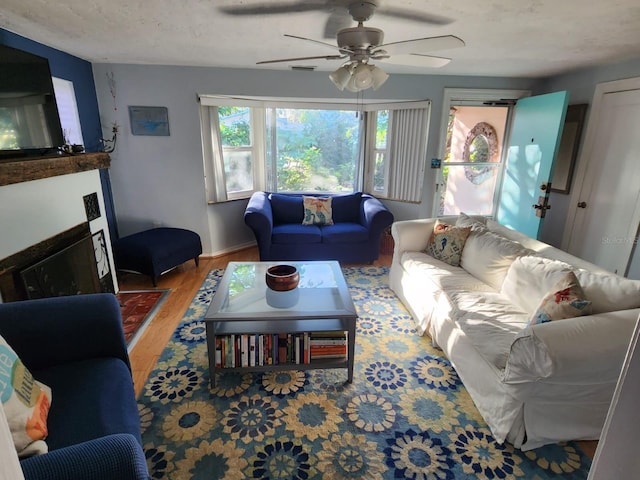
[[[0,304],[0,335],[27,368],[116,357],[130,368],[120,304],[111,293]]]

